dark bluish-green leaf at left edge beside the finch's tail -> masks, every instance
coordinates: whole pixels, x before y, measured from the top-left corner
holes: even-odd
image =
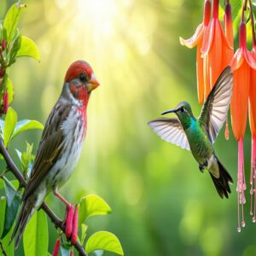
[[[20,193],[15,190],[15,187],[6,177],[3,177],[3,180],[7,204],[5,207],[4,227],[1,239],[9,233],[20,206]]]

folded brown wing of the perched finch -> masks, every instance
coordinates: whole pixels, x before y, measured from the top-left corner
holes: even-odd
[[[61,125],[67,119],[71,108],[71,105],[61,105],[57,102],[55,108],[49,114],[39,143],[38,153],[32,166],[32,174],[26,185],[22,200],[26,200],[34,189],[38,187],[62,154],[64,137]]]

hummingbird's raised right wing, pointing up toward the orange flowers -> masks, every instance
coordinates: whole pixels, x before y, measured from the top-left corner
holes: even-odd
[[[204,103],[200,114],[200,123],[214,143],[226,119],[230,108],[232,95],[233,74],[231,68],[226,67],[218,77],[218,80]]]

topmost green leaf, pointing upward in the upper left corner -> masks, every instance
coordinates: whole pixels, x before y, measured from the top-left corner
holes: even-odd
[[[7,14],[5,15],[3,27],[6,29],[8,43],[10,43],[13,38],[13,35],[20,20],[20,15],[25,8],[26,4],[15,3],[10,7]]]

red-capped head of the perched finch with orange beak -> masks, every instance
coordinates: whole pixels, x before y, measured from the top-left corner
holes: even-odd
[[[68,67],[65,84],[67,84],[67,90],[76,100],[86,102],[91,90],[100,85],[86,61],[75,61]]]

